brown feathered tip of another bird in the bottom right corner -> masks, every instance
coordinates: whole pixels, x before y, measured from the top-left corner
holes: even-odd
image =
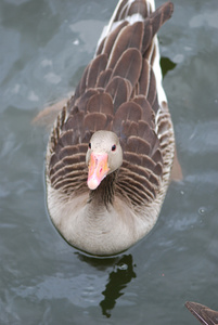
[[[187,301],[184,304],[189,311],[204,325],[218,324],[218,311],[192,301]]]

